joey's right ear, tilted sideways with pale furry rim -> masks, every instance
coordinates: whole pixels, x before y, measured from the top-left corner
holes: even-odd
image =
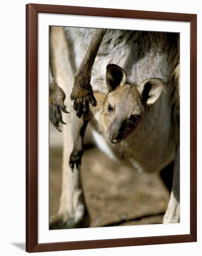
[[[141,95],[143,105],[153,104],[157,101],[164,89],[164,81],[158,78],[147,79],[137,89]]]

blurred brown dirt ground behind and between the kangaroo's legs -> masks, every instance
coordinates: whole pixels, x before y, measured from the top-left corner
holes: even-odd
[[[90,227],[162,223],[170,193],[159,174],[139,174],[97,148],[82,158]],[[50,124],[50,216],[57,213],[62,178],[62,134]]]

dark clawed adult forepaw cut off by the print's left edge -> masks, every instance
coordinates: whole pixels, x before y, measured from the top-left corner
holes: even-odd
[[[68,114],[66,106],[64,105],[65,94],[57,84],[54,87],[50,86],[50,121],[57,128],[59,132],[62,132],[59,126],[59,122],[66,124],[62,118],[62,112]]]

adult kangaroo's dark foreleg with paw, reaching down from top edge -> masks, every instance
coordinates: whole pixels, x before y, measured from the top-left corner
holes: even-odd
[[[95,57],[101,45],[101,41],[105,35],[106,29],[94,29],[90,44],[87,48],[81,66],[74,76],[74,86],[72,88],[71,100],[74,100],[74,109],[76,115],[80,118],[88,115],[89,102],[96,106],[96,100],[93,95],[93,89],[90,84],[91,72]]]

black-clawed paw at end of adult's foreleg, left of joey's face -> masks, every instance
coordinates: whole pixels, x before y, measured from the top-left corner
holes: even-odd
[[[81,118],[82,115],[88,116],[89,103],[95,107],[97,106],[97,101],[93,95],[93,89],[90,84],[85,87],[74,84],[70,98],[74,101],[73,108],[79,118]]]

